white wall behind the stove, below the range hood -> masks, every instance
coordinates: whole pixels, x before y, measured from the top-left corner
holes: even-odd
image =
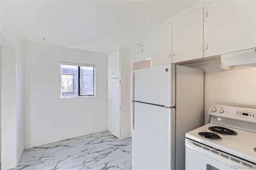
[[[209,122],[210,104],[256,109],[256,66],[221,69],[220,63],[200,65],[204,70],[204,124]]]

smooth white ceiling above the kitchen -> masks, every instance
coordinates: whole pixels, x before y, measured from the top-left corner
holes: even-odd
[[[142,42],[149,30],[197,2],[20,0],[8,6],[25,40],[108,53]]]

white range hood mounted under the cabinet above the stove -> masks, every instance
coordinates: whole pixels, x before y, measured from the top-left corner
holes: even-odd
[[[232,69],[232,66],[256,63],[256,48],[245,49],[220,55],[221,68]]]

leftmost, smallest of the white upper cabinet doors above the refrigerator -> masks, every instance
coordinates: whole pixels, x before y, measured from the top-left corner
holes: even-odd
[[[152,66],[172,63],[172,24],[152,36]]]

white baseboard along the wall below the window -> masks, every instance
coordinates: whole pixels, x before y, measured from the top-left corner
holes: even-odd
[[[73,134],[66,134],[66,135],[56,136],[56,137],[50,138],[50,139],[28,142],[28,143],[25,144],[25,148],[30,148],[30,147],[39,146],[39,145],[42,145],[42,144],[57,142],[57,141],[60,141],[60,140],[65,140],[65,139],[69,139],[69,138],[83,136],[83,135],[86,135],[86,134],[91,134],[91,133],[100,132],[100,131],[104,131],[104,130],[107,130],[107,127],[100,127],[100,128],[96,128],[96,129],[92,129],[92,130],[86,130],[86,131],[73,133]]]

